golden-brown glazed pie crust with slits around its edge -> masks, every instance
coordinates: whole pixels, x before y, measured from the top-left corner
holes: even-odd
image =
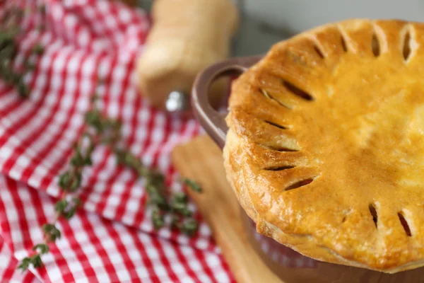
[[[327,262],[424,265],[424,24],[279,42],[232,86],[225,169],[257,230]]]

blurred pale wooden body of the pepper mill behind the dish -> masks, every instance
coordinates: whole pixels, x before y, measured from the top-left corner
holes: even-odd
[[[228,56],[237,24],[230,0],[155,0],[153,28],[137,63],[143,96],[164,108],[172,91],[189,94],[199,71]]]

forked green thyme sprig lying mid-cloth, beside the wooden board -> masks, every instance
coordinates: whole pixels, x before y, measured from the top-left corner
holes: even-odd
[[[57,221],[61,217],[71,219],[78,207],[81,207],[81,200],[75,197],[75,194],[81,188],[82,171],[93,164],[91,156],[96,146],[100,144],[110,146],[114,150],[118,164],[130,168],[143,178],[148,195],[148,206],[151,207],[151,221],[155,229],[165,226],[166,214],[169,214],[172,219],[170,227],[179,229],[188,236],[193,236],[198,229],[196,219],[191,217],[192,212],[188,207],[187,195],[184,192],[176,192],[172,197],[167,197],[169,188],[165,184],[165,176],[155,168],[144,166],[140,158],[117,146],[121,139],[121,123],[103,115],[97,107],[97,99],[98,96],[93,95],[92,107],[85,115],[86,131],[73,145],[69,168],[59,175],[58,184],[62,195],[54,204],[56,212],[54,221],[42,226],[45,241],[33,247],[35,252],[33,255],[23,258],[18,266],[18,269],[22,271],[27,270],[31,265],[42,266],[41,256],[49,252],[49,243],[54,243],[61,238],[61,232],[56,226]],[[201,187],[193,180],[184,178],[182,183],[192,187],[192,190],[196,192],[201,192]]]

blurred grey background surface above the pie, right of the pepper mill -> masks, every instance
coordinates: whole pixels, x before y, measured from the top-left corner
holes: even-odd
[[[213,1],[213,0],[210,0]],[[242,26],[233,56],[261,54],[302,30],[346,18],[399,18],[424,21],[424,0],[234,0]],[[151,0],[140,0],[147,8]]]

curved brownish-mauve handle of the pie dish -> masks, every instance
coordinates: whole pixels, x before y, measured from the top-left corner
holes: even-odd
[[[232,58],[218,62],[201,71],[194,81],[192,89],[194,115],[221,149],[223,149],[225,144],[228,127],[223,115],[209,103],[209,86],[222,76],[242,74],[253,64],[257,63],[259,59],[261,59],[261,56]]]

